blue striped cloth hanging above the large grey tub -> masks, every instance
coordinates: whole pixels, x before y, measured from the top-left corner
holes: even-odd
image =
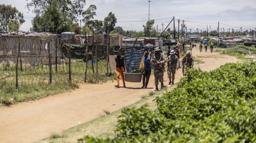
[[[144,49],[124,52],[125,68],[127,72],[139,69]]]

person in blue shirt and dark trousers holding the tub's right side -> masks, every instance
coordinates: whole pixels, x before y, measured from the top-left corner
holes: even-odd
[[[141,88],[147,88],[148,86],[148,81],[150,78],[150,74],[151,74],[151,65],[150,65],[150,59],[148,57],[148,51],[146,51],[144,53],[144,57],[143,57],[143,61],[144,61],[144,69],[141,71],[142,73],[142,87]]]

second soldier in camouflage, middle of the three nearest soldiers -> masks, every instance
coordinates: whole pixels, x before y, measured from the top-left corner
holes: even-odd
[[[171,51],[171,55],[168,57],[168,60],[166,62],[168,62],[168,78],[169,78],[169,85],[172,83],[174,84],[174,79],[175,79],[175,73],[176,73],[176,69],[178,71],[178,57],[176,55],[174,55],[174,50]],[[172,80],[171,80],[172,79]]]

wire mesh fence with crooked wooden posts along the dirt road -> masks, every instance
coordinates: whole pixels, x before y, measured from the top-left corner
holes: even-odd
[[[56,35],[0,37],[0,89],[106,77],[110,48],[92,37],[86,41],[74,45]]]

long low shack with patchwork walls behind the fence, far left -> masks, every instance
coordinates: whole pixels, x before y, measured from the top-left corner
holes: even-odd
[[[56,63],[56,55],[57,63],[61,64],[57,39],[56,35],[48,33],[0,34],[0,64],[16,64],[18,46],[20,46],[18,60],[19,62],[21,60],[22,65],[49,65],[49,47],[52,64]]]

